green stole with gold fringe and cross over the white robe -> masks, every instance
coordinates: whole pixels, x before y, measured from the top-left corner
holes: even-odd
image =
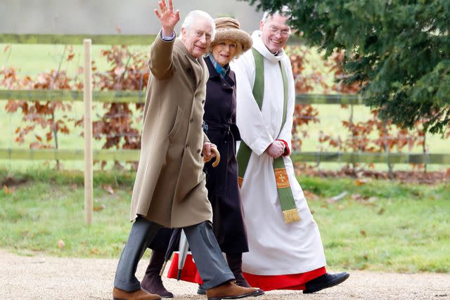
[[[253,57],[255,58],[255,84],[253,85],[253,96],[258,104],[259,110],[262,108],[262,101],[264,99],[264,57],[255,48],[252,48]],[[284,103],[283,103],[283,122],[281,129],[286,122],[286,112],[288,108],[288,76],[286,75],[283,64],[280,63],[281,74],[283,77],[284,89]],[[245,170],[247,169],[252,150],[243,141],[240,141],[238,154],[238,179],[239,186],[242,185]],[[274,175],[276,180],[276,188],[278,190],[278,197],[280,198],[281,210],[283,211],[284,220],[286,223],[300,221],[297,207],[293,197],[293,191],[290,189],[288,173],[286,172],[283,156],[274,159]]]

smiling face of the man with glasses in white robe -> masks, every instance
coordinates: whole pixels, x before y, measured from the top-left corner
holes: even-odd
[[[261,21],[259,30],[261,30],[261,39],[271,53],[281,51],[288,42],[290,36],[290,27],[286,24],[288,17],[275,14],[269,15],[267,20]]]

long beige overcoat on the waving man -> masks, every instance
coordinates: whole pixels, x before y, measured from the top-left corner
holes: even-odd
[[[142,215],[169,228],[212,221],[203,173],[202,130],[207,66],[179,39],[150,47],[141,157],[131,221]]]

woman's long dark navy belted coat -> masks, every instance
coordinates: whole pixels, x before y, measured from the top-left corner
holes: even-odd
[[[207,81],[205,115],[207,136],[217,145],[221,160],[217,167],[205,165],[206,188],[212,204],[214,234],[222,252],[248,252],[243,207],[238,186],[236,141],[240,140],[236,126],[236,77],[232,70],[222,78],[205,58],[210,71]]]

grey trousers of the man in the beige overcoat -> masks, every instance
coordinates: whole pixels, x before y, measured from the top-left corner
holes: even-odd
[[[136,278],[136,268],[143,253],[158,233],[159,226],[152,221],[139,216],[131,226],[127,244],[120,255],[115,273],[114,286],[127,292],[141,289],[141,282]],[[183,228],[195,266],[203,280],[206,289],[217,287],[233,280],[224,256],[221,253],[216,237],[212,232],[212,224],[203,222]]]

